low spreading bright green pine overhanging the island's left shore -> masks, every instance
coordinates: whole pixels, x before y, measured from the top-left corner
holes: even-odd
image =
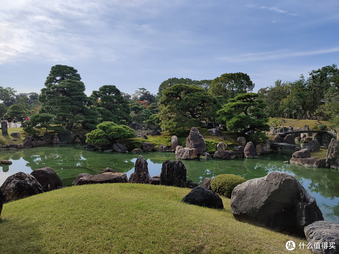
[[[87,134],[86,143],[108,145],[115,140],[134,137],[133,129],[126,125],[117,125],[114,122],[102,122],[95,130]]]

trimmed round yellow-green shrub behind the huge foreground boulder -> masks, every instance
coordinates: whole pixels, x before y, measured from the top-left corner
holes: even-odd
[[[214,192],[217,192],[225,197],[230,198],[233,189],[239,185],[246,182],[246,179],[238,175],[233,174],[222,174],[217,175],[211,180],[211,189]]]

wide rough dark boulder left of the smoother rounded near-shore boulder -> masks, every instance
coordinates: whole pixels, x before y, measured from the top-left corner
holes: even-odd
[[[43,192],[41,184],[33,175],[18,172],[8,176],[1,186],[6,202],[33,196]]]

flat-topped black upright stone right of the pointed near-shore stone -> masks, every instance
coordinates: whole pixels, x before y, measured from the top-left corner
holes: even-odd
[[[184,188],[186,186],[185,165],[181,161],[164,161],[161,167],[160,185]]]

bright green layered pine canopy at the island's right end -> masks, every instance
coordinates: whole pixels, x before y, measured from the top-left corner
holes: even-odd
[[[228,130],[245,133],[252,130],[260,132],[269,130],[263,109],[265,103],[258,99],[257,93],[244,93],[229,99],[228,103],[218,111],[219,120],[225,123]]]

